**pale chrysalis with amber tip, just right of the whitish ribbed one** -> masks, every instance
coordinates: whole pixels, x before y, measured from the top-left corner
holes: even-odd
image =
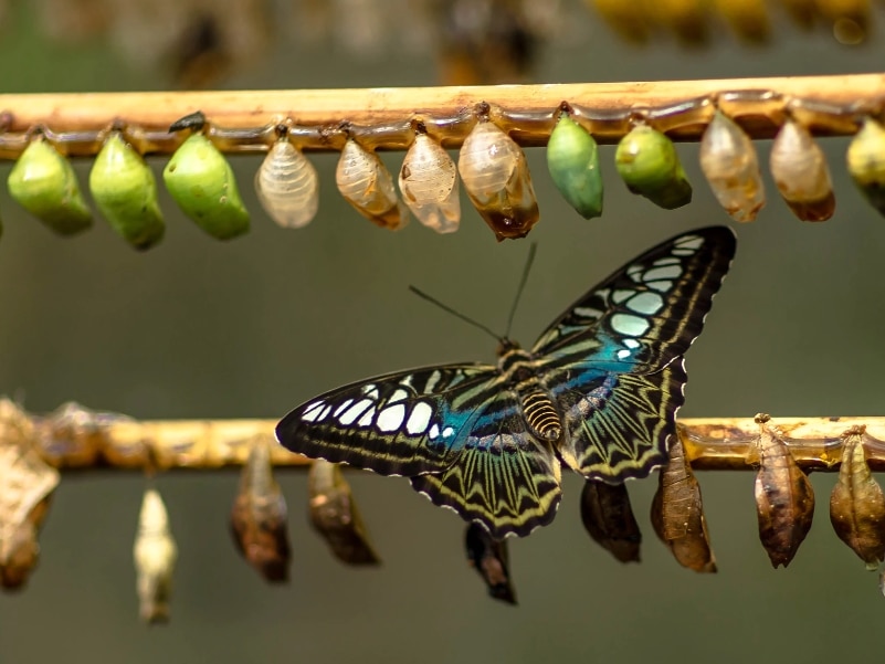
[[[409,223],[409,211],[397,197],[393,176],[373,151],[348,138],[335,171],[338,191],[354,208],[382,229]]]

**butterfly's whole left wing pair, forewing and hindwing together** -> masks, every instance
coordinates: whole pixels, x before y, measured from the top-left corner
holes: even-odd
[[[527,535],[559,504],[559,461],[526,430],[494,367],[390,373],[312,399],[276,428],[312,459],[405,475],[436,505],[494,537]]]

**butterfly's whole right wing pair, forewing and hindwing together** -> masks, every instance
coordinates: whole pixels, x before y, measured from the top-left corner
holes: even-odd
[[[644,477],[663,463],[684,402],[683,354],[735,254],[730,229],[678,235],[575,303],[533,352],[566,423],[559,455],[589,478]]]

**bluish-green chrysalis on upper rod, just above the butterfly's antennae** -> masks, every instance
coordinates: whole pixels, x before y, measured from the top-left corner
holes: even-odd
[[[597,141],[587,129],[562,113],[547,141],[547,168],[554,185],[583,217],[602,214],[602,171]]]

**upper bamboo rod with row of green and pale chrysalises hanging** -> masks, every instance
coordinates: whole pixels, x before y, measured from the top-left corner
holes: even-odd
[[[677,140],[698,140],[718,107],[754,138],[773,136],[787,115],[816,135],[846,135],[863,115],[881,115],[885,106],[885,74],[656,81],[639,83],[575,83],[239,92],[141,92],[0,95],[0,158],[15,158],[25,143],[6,137],[44,127],[54,134],[95,134],[125,125],[154,133],[144,151],[166,154],[178,139],[162,136],[177,119],[202,112],[213,127],[256,131],[288,123],[305,129],[295,135],[302,147],[340,149],[336,128],[343,123],[384,149],[408,147],[409,124],[426,119],[429,131],[444,145],[461,145],[475,122],[475,109],[488,104],[491,115],[517,143],[546,145],[556,112],[567,102],[598,140],[612,143],[630,130],[636,116],[649,118]],[[368,128],[368,129],[367,129]],[[313,131],[313,134],[312,134]],[[260,134],[257,134],[260,136]],[[336,138],[337,137],[337,138]],[[72,143],[76,143],[76,137]],[[83,143],[89,143],[84,137]],[[94,141],[93,141],[94,143]],[[266,140],[222,141],[228,151],[262,150]],[[101,143],[67,150],[94,154]]]

